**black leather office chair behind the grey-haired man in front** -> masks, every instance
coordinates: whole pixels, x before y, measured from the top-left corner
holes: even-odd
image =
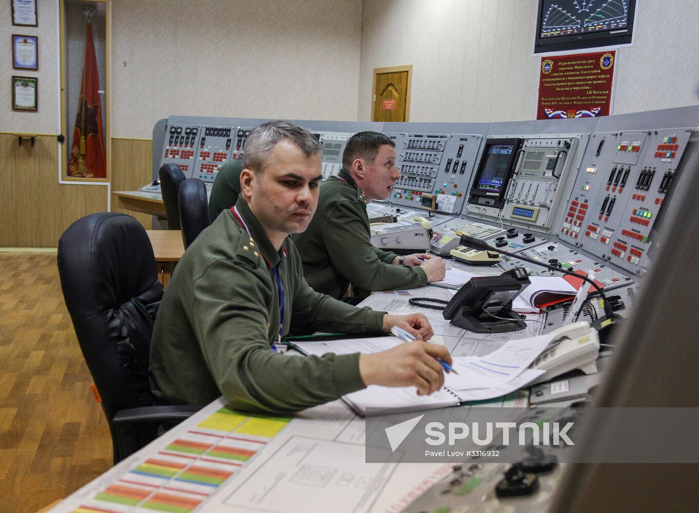
[[[163,295],[150,240],[129,215],[88,215],[61,236],[58,270],[118,463],[154,440],[161,422],[199,409],[156,405],[150,392],[150,338]]]

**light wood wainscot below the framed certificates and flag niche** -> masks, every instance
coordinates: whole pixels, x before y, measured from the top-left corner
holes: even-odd
[[[0,247],[57,247],[76,219],[107,210],[106,185],[58,183],[58,147],[0,133]]]

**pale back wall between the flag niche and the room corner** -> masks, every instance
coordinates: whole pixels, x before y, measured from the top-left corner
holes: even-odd
[[[356,120],[361,0],[115,0],[112,136],[168,115]]]

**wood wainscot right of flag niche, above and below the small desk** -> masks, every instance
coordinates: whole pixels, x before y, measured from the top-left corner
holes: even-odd
[[[135,191],[152,180],[152,147],[152,140],[112,138],[112,192]],[[114,194],[111,210],[132,215],[145,229],[152,229],[150,215],[119,208]]]

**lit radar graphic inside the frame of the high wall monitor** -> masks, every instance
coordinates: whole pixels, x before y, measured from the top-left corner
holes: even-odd
[[[628,27],[628,0],[545,0],[541,38]]]

